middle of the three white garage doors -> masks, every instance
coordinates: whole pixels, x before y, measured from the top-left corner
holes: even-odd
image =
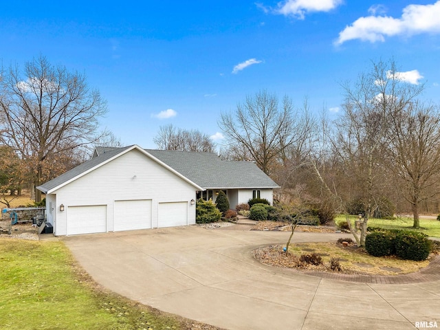
[[[135,230],[151,228],[151,199],[137,201],[115,201],[113,230]]]

